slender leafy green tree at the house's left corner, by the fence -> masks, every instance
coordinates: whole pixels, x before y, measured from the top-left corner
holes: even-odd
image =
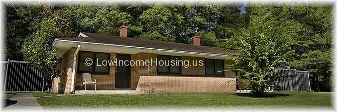
[[[60,59],[56,55],[56,49],[51,46],[53,40],[59,37],[54,23],[48,20],[42,21],[40,29],[28,36],[22,45],[24,60],[29,61],[31,67],[42,72],[49,91],[53,78],[59,76],[56,65]]]

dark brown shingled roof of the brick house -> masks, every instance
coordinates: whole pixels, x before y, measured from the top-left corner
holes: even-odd
[[[124,46],[145,47],[145,48],[155,48],[155,49],[165,49],[165,50],[197,52],[197,53],[239,55],[239,53],[234,52],[232,50],[225,50],[225,49],[221,49],[217,47],[196,46],[192,44],[165,42],[165,41],[158,41],[158,40],[146,40],[146,39],[130,38],[130,37],[122,38],[119,36],[111,36],[111,35],[103,35],[103,34],[95,34],[95,33],[83,33],[83,34],[88,37],[87,38],[86,37],[58,38],[58,39],[81,41],[81,42],[115,44],[115,45],[124,45]]]

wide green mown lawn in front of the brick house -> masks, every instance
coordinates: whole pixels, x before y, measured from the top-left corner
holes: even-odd
[[[235,93],[65,95],[37,98],[45,109],[88,108],[332,108],[332,92],[277,92],[265,98]],[[36,93],[33,93],[37,96]],[[50,95],[50,94],[46,94]],[[39,96],[39,95],[38,95]]]

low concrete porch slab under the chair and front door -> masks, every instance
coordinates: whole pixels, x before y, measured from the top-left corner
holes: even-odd
[[[144,91],[136,91],[136,90],[76,90],[75,94],[77,94],[77,95],[84,95],[84,94],[105,94],[105,95],[144,94]]]

